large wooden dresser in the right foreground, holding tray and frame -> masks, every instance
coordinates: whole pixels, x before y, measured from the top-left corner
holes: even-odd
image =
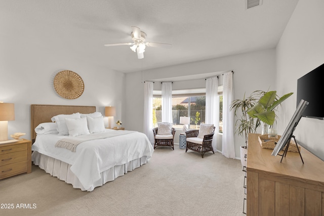
[[[305,164],[296,152],[280,163],[258,136],[249,134],[247,215],[324,215],[324,162],[301,148]]]

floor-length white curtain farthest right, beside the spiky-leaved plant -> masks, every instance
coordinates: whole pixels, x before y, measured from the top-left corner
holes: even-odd
[[[233,75],[232,72],[223,74],[223,141],[222,153],[225,157],[235,158],[234,150],[234,113],[229,111],[233,100]]]

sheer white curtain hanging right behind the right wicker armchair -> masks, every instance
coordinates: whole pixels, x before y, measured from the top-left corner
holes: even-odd
[[[213,149],[216,151],[217,148],[217,132],[218,132],[218,116],[219,116],[219,103],[218,103],[218,78],[211,77],[206,79],[206,116],[205,123],[206,124],[214,124],[215,134],[213,137]]]

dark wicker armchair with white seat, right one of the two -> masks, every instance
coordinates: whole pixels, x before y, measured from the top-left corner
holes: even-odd
[[[204,139],[198,138],[199,130],[197,129],[186,131],[186,138],[187,138],[186,152],[188,151],[188,149],[199,152],[202,158],[204,158],[204,154],[209,151],[212,151],[215,154],[212,146],[214,131],[215,131],[215,126],[213,129],[213,133],[205,135]],[[195,139],[189,139],[191,141],[189,142],[188,138],[195,138]]]

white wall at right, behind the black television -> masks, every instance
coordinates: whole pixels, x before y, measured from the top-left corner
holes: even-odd
[[[295,93],[280,111],[279,133],[285,131],[296,110],[297,79],[324,63],[323,11],[322,0],[300,0],[277,46],[277,89]],[[302,117],[294,135],[297,142],[324,160],[323,131],[323,120]]]

